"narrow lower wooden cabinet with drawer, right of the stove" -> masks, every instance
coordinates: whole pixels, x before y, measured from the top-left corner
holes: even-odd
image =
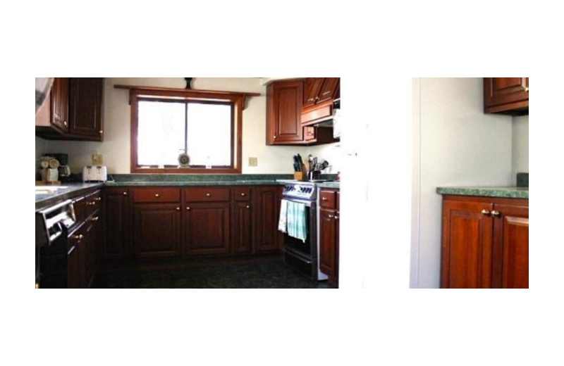
[[[341,194],[336,189],[322,189],[319,196],[319,268],[329,277],[329,283],[337,285]]]

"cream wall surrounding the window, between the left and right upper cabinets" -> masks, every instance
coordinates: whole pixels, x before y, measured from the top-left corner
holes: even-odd
[[[185,87],[183,77],[106,77],[104,83],[104,142],[50,141],[53,152],[68,153],[71,170],[80,172],[91,164],[92,153],[104,154],[109,172],[130,172],[130,106],[128,92],[114,89],[114,84],[154,87]],[[292,156],[319,148],[294,146],[266,146],[266,87],[257,77],[197,77],[192,82],[195,89],[226,90],[231,92],[256,92],[243,112],[243,173],[291,174]],[[321,151],[324,151],[323,149]],[[327,152],[331,155],[331,149]],[[259,166],[250,168],[248,158],[257,157]],[[320,156],[320,158],[323,158]],[[336,159],[335,159],[336,160]],[[331,160],[330,160],[331,161]],[[332,162],[331,162],[332,163]]]

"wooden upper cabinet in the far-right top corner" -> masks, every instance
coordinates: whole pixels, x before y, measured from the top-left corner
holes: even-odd
[[[528,77],[484,77],[486,113],[529,114]]]

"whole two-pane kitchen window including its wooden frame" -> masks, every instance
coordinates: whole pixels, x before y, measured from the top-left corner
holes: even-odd
[[[240,173],[243,99],[161,94],[132,91],[131,172]],[[180,167],[183,153],[189,162]]]

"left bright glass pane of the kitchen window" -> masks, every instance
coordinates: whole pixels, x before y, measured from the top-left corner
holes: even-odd
[[[185,103],[139,101],[138,113],[138,164],[178,165],[185,149]]]

